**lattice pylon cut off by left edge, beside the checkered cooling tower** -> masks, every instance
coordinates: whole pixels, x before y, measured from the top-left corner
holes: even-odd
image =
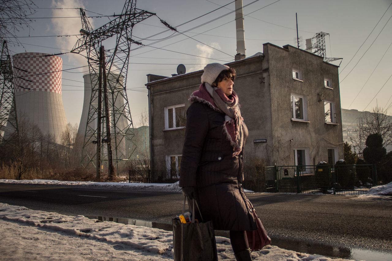
[[[16,116],[13,70],[7,41],[3,42],[0,58],[0,143],[18,147],[19,131]]]

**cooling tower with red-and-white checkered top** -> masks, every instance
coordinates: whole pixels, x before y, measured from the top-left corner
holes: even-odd
[[[61,95],[62,58],[19,53],[13,56],[13,66],[18,119],[38,125],[44,135],[52,134],[61,143],[67,125]]]

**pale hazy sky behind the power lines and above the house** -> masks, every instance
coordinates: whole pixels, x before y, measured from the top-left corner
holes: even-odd
[[[15,38],[8,39],[9,49],[13,54],[25,51],[50,54],[67,52],[74,47],[77,36],[56,36],[79,34],[81,21],[77,8],[88,10],[87,15],[90,16],[120,14],[125,0],[34,2],[38,9],[33,17],[37,19],[31,24],[30,30],[18,32],[18,39],[23,46],[13,46]],[[203,69],[206,63],[227,63],[234,60],[235,14],[219,18],[235,9],[234,2],[229,4],[230,2],[232,0],[136,2],[138,9],[156,13],[156,16],[143,20],[133,28],[134,40],[151,44],[149,47],[139,47],[136,44],[131,47],[126,89],[134,125],[138,125],[140,114],[148,110],[146,74],[171,76],[176,73],[180,63],[185,65],[187,72],[192,72]],[[226,4],[229,5],[213,11]],[[243,0],[246,55],[263,52],[263,43],[266,42],[279,46],[295,45],[297,13],[298,34],[303,39],[303,46],[305,39],[314,37],[316,33],[329,33],[325,38],[327,56],[343,58],[332,62],[336,65],[341,62],[339,81],[342,108],[371,111],[378,105],[388,108],[388,114],[392,115],[391,4],[391,0]],[[211,11],[213,12],[209,13]],[[184,24],[203,14],[207,15]],[[89,18],[89,21],[96,29],[109,22],[109,19],[114,18]],[[187,32],[181,34],[167,31],[160,19],[180,32]],[[172,37],[168,38],[169,36]],[[110,39],[105,40],[103,45],[105,49],[114,47]],[[87,64],[86,59],[78,54],[60,56],[63,58],[63,69]],[[80,122],[83,106],[82,76],[86,73],[87,67],[63,72],[65,114],[67,121],[72,124]]]

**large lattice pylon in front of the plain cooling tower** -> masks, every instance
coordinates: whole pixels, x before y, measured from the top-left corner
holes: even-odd
[[[125,91],[129,52],[134,42],[131,36],[134,25],[153,15],[136,9],[136,0],[127,0],[122,14],[93,30],[84,10],[80,9],[83,37],[71,52],[87,51],[92,88],[82,162],[96,167],[97,178],[100,178],[103,165],[107,166],[109,177],[112,177],[114,168],[118,170],[121,162],[129,160],[136,149]],[[111,37],[115,37],[116,42],[107,55],[102,42]]]

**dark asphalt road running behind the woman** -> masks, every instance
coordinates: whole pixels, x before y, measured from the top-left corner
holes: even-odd
[[[349,254],[345,252],[352,248],[392,254],[392,201],[338,195],[247,196],[274,245],[346,258]],[[73,216],[140,219],[170,227],[167,224],[171,224],[171,218],[182,210],[183,196],[171,192],[0,184],[0,202]],[[333,254],[336,249],[338,254]]]

